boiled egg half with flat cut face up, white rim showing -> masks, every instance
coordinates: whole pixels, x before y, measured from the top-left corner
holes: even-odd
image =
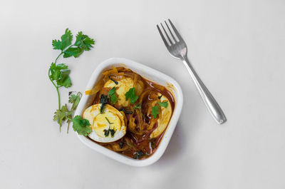
[[[83,112],[83,118],[87,119],[92,131],[89,138],[100,143],[118,141],[125,136],[127,128],[122,113],[113,106],[105,105],[103,113],[100,113],[101,104],[88,107]]]

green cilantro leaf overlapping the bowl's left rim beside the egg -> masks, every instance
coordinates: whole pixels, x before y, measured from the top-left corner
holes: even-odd
[[[79,135],[88,136],[88,134],[91,133],[92,129],[87,119],[84,119],[81,116],[75,116],[72,122],[73,130],[76,131]]]

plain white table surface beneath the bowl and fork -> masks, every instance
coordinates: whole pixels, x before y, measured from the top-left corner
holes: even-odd
[[[1,1],[0,188],[285,188],[285,1]],[[155,24],[170,18],[228,121],[217,125]],[[145,168],[90,150],[52,121],[51,40],[66,28],[95,47],[71,68],[83,91],[110,57],[175,78],[184,107],[165,154]]]

